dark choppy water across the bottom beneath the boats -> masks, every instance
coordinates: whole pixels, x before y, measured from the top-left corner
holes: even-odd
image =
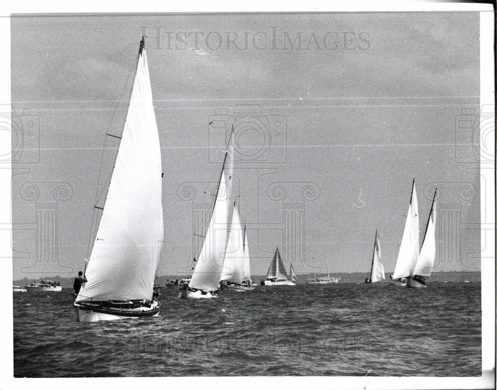
[[[97,323],[75,321],[71,290],[14,293],[14,376],[479,376],[480,289],[169,286],[160,317]]]

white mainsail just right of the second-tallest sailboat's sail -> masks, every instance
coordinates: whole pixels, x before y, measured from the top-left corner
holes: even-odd
[[[240,215],[237,206],[233,208],[233,218],[231,219],[230,235],[228,245],[226,246],[226,256],[224,257],[222,281],[230,281],[242,284],[244,280],[244,238],[242,235],[242,225],[240,224]],[[250,276],[248,277],[250,278]]]

